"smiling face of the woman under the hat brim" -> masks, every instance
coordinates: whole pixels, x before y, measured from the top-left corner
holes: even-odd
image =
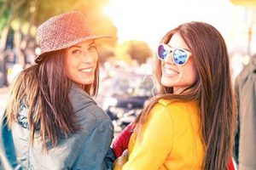
[[[94,40],[73,45],[67,48],[66,54],[67,77],[79,85],[89,85],[94,82],[98,60]]]

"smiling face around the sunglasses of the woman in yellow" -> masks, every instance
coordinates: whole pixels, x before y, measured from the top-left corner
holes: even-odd
[[[168,43],[172,48],[183,48],[188,51],[187,44],[179,34],[174,34]],[[197,80],[197,71],[193,60],[193,54],[185,65],[178,66],[173,63],[172,53],[161,62],[162,76],[160,82],[166,87],[173,87],[174,94],[178,94],[184,88],[189,88]]]

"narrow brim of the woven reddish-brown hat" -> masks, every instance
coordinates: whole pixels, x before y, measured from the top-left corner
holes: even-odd
[[[61,48],[55,48],[55,50],[44,51],[43,53],[38,55],[37,59],[35,59],[35,63],[38,64],[42,60],[44,55],[49,54],[51,52],[55,52],[55,51],[58,51],[58,50],[61,50],[61,49],[72,47],[73,45],[78,44],[80,42],[85,42],[85,41],[88,41],[88,40],[94,40],[94,39],[100,39],[100,38],[110,38],[110,37],[113,37],[113,36],[108,36],[108,35],[107,36],[91,35],[91,36],[88,36],[88,37],[81,37],[81,38],[76,39],[76,40],[74,40],[72,42],[68,42],[67,44],[61,46]]]

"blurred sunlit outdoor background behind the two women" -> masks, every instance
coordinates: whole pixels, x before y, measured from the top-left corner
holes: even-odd
[[[100,89],[96,99],[120,131],[157,93],[155,48],[165,33],[187,21],[204,21],[228,45],[232,80],[256,53],[256,0],[0,0],[0,111],[10,87],[40,53],[38,26],[70,10],[84,13],[99,40]]]

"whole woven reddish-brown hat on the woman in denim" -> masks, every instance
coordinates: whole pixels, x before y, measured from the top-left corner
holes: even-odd
[[[39,63],[44,54],[49,52],[102,37],[111,36],[96,36],[92,34],[88,21],[84,14],[80,12],[73,11],[54,16],[38,27],[38,42],[41,54],[38,55],[35,62]]]

